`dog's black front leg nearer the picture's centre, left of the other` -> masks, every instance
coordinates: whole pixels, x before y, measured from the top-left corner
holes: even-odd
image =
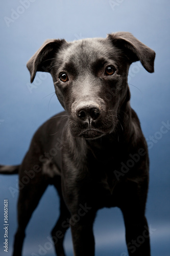
[[[91,188],[71,176],[71,170],[62,182],[63,197],[71,217],[69,220],[75,256],[94,256],[93,222],[95,205],[90,198]],[[66,178],[66,179],[65,179]],[[91,195],[92,197],[92,195]]]

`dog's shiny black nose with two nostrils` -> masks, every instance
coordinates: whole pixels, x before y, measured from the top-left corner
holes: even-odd
[[[83,121],[88,119],[96,120],[100,116],[101,111],[98,106],[94,105],[83,105],[78,106],[76,109],[76,115]]]

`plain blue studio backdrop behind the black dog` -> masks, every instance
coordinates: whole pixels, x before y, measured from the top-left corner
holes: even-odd
[[[170,255],[169,142],[170,131],[160,132],[169,121],[169,8],[167,0],[6,0],[1,13],[0,163],[18,164],[30,140],[46,119],[62,110],[50,74],[38,73],[30,89],[26,68],[29,58],[47,38],[76,40],[106,37],[107,33],[129,31],[156,52],[155,73],[136,62],[130,69],[131,105],[137,112],[150,145],[150,189],[146,215],[151,228],[154,256]],[[22,7],[21,7],[22,6]],[[17,14],[19,13],[19,14]],[[10,18],[10,19],[9,19]],[[54,96],[53,96],[54,95]],[[154,141],[151,143],[151,137]],[[11,255],[16,231],[17,175],[0,176],[0,254]],[[9,252],[3,250],[4,199],[9,200]],[[55,189],[48,187],[27,228],[23,255],[54,255],[47,242],[59,215]],[[126,256],[125,228],[119,209],[102,209],[94,224],[96,255]],[[65,248],[72,255],[70,232]],[[35,253],[35,254],[33,254]]]

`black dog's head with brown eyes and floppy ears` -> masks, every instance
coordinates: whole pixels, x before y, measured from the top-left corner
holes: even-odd
[[[50,72],[57,97],[69,113],[72,135],[85,139],[112,133],[123,105],[130,99],[128,70],[140,60],[154,72],[155,52],[131,33],[117,32],[107,38],[73,42],[45,41],[28,61],[33,82],[36,72]]]

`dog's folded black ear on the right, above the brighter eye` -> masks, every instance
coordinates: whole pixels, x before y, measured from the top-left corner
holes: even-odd
[[[129,61],[140,60],[142,66],[150,73],[154,72],[155,52],[142,44],[129,32],[116,32],[108,34],[114,46],[123,49]]]

